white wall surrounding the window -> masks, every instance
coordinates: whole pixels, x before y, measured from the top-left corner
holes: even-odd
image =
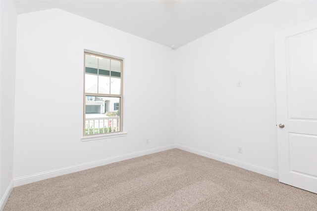
[[[20,14],[17,25],[15,185],[173,146],[175,51],[59,9]],[[81,141],[84,49],[125,58],[127,136]]]

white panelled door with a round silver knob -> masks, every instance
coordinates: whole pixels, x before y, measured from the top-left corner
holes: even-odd
[[[275,34],[279,181],[317,193],[317,19]]]

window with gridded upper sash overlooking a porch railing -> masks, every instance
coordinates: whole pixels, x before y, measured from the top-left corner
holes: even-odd
[[[84,136],[121,132],[122,60],[85,51],[84,72]]]

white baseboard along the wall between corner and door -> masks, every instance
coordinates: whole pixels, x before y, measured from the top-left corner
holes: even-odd
[[[227,158],[227,157],[224,157],[224,156],[216,155],[216,154],[213,154],[213,153],[210,153],[210,152],[206,152],[206,151],[203,151],[203,150],[187,147],[187,146],[180,145],[180,144],[176,144],[176,148],[184,150],[184,151],[187,151],[187,152],[195,153],[197,155],[201,155],[201,156],[204,156],[204,157],[207,157],[207,158],[211,158],[211,159],[214,159],[214,160],[217,160],[217,161],[221,161],[223,163],[231,164],[233,166],[240,167],[242,169],[247,169],[247,170],[251,170],[251,171],[257,172],[257,173],[261,173],[261,174],[263,174],[265,176],[270,176],[270,177],[278,179],[278,171],[275,171],[275,170],[266,169],[266,168],[259,167],[259,166],[253,165],[253,164],[245,163],[245,162],[242,162],[242,161],[238,161],[238,160],[235,160],[235,159],[231,159],[231,158]]]

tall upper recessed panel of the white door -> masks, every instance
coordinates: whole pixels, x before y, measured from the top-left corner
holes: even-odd
[[[317,48],[314,46],[317,46],[317,30],[286,38],[290,119],[317,120]]]

